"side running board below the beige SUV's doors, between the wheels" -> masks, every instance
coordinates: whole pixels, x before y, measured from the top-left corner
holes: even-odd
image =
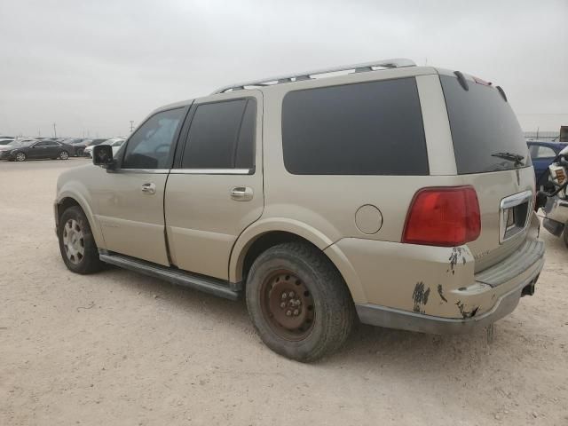
[[[239,298],[240,284],[235,285],[225,280],[204,277],[190,272],[183,272],[177,269],[168,268],[159,264],[152,264],[144,260],[135,259],[129,256],[118,254],[99,253],[99,258],[106,264],[114,264],[130,271],[144,273],[154,278],[170,281],[179,286],[194,288],[204,291],[211,295],[225,297],[226,299],[237,300]]]

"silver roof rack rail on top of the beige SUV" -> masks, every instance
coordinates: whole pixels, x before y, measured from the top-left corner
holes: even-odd
[[[296,73],[292,75],[280,75],[278,77],[263,78],[262,80],[231,84],[229,86],[221,87],[217,89],[217,91],[214,91],[211,94],[213,95],[216,93],[223,93],[225,91],[242,91],[248,86],[272,86],[281,83],[292,83],[293,81],[299,82],[302,80],[310,80],[312,78],[312,75],[336,73],[338,71],[353,70],[356,73],[362,73],[366,71],[373,71],[373,67],[401,68],[401,67],[415,67],[415,66],[416,64],[411,59],[406,59],[406,58],[381,59],[372,62],[365,62],[362,64],[352,64],[352,65],[343,65],[340,67],[315,69],[312,71],[306,71],[304,73]]]

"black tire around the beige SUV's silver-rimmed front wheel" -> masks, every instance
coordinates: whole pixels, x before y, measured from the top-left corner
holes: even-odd
[[[81,230],[83,255],[75,257],[75,261],[67,256],[67,248],[65,246],[66,225],[69,221],[75,221]],[[65,262],[67,269],[71,272],[89,274],[99,272],[104,264],[99,259],[99,248],[95,243],[95,239],[91,233],[91,225],[87,217],[83,213],[83,209],[79,206],[72,206],[67,208],[59,218],[59,228],[57,231],[59,238],[59,251],[63,262]]]

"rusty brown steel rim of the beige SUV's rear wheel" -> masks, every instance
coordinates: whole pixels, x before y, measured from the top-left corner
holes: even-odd
[[[272,272],[260,288],[261,310],[272,331],[290,342],[312,333],[315,302],[303,280],[291,271]]]

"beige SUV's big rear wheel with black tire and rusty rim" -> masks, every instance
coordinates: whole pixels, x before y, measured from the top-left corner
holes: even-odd
[[[282,283],[278,282],[279,278],[272,280],[272,277],[281,273],[286,276],[282,281],[289,280],[286,271],[294,276],[292,280],[296,286],[300,286],[298,281],[301,282],[304,296],[309,295],[309,305],[302,306],[312,312],[312,319],[297,330],[276,324],[278,319],[275,317],[281,318],[281,312],[277,312],[278,306],[271,305],[272,297],[278,298],[280,289],[276,288]],[[272,295],[272,291],[276,294]],[[286,292],[284,290],[280,296],[284,297]],[[334,264],[318,248],[302,242],[280,244],[258,256],[248,272],[246,298],[248,314],[263,342],[272,351],[301,362],[319,359],[339,349],[347,340],[355,320],[351,294]],[[280,308],[288,309],[282,305]],[[304,326],[309,326],[309,330],[302,330]],[[297,338],[293,333],[299,334]]]

